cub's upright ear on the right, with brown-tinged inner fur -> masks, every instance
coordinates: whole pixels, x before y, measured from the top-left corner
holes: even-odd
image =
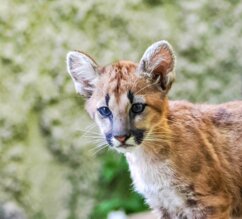
[[[164,40],[152,44],[141,58],[138,73],[157,81],[168,92],[175,80],[175,55],[171,45]]]

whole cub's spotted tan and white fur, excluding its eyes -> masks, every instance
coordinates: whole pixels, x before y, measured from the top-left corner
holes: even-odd
[[[168,101],[175,56],[166,41],[150,46],[139,64],[100,67],[83,53],[67,57],[87,112],[110,147],[125,154],[134,189],[160,218],[242,216],[242,101]]]

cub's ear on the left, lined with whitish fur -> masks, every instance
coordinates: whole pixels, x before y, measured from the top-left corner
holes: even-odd
[[[88,55],[72,51],[66,56],[67,70],[74,82],[76,92],[89,98],[97,81],[97,64]]]

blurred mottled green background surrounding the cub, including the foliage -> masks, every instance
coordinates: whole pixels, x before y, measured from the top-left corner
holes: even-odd
[[[139,61],[168,40],[177,56],[171,99],[242,97],[242,2],[236,0],[2,0],[0,218],[14,203],[30,219],[104,219],[147,209],[125,159],[96,152],[65,56]]]

